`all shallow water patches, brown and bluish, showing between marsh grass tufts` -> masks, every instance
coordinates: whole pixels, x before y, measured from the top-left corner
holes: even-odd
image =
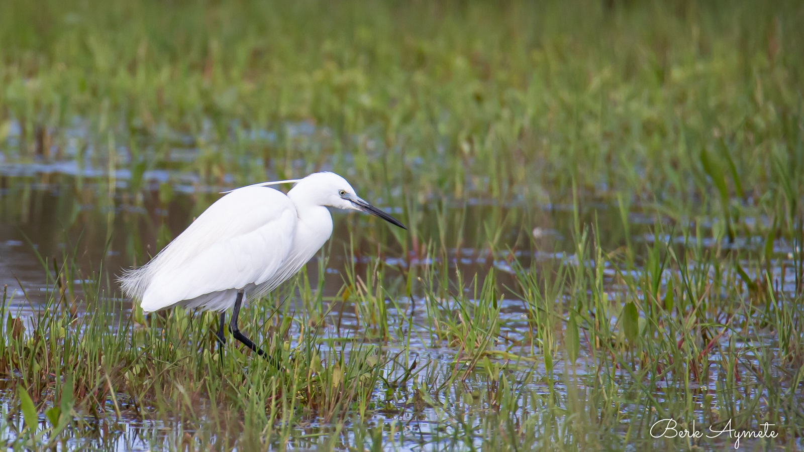
[[[316,129],[307,123],[285,125],[285,134],[293,137],[326,139],[326,130]],[[174,142],[175,146],[170,152],[172,161],[191,162],[198,156],[199,150],[191,147],[193,140],[182,134],[166,132],[166,135],[167,137],[163,139]],[[276,134],[260,131],[251,132],[249,136],[254,140],[267,142],[277,139]],[[84,138],[80,121],[76,122],[75,130],[65,137],[68,146],[60,150],[55,159],[38,158],[39,161],[31,162],[31,158],[24,156],[20,151],[23,149],[20,132],[18,125],[12,123],[5,152],[0,153],[0,287],[6,286],[11,299],[11,309],[19,310],[23,317],[35,313],[37,306],[55,290],[54,262],[59,266],[65,260],[71,261],[73,258],[79,270],[73,274],[81,275],[81,279],[72,281],[73,296],[78,300],[79,306],[83,297],[82,282],[95,281],[97,278],[100,278],[100,286],[106,290],[106,298],[118,298],[120,295],[113,281],[114,276],[119,274],[121,269],[142,264],[148,254],[161,249],[172,237],[186,228],[192,218],[202,212],[205,206],[218,199],[221,196],[218,194],[219,191],[231,188],[234,181],[231,175],[222,175],[219,177],[220,186],[205,184],[193,173],[171,169],[170,162],[166,162],[165,168],[144,171],[136,176],[142,179],[137,182],[138,187],[144,188],[132,191],[130,184],[132,179],[136,178],[130,168],[118,167],[113,171],[107,171],[104,168],[108,162],[93,160],[91,149],[87,150],[76,144]],[[84,153],[87,155],[83,155]],[[130,162],[125,148],[119,149],[118,154],[121,166],[125,166],[125,162]],[[48,161],[44,162],[45,160]],[[304,162],[298,162],[297,166],[304,167]],[[360,192],[360,188],[357,189]],[[382,206],[381,199],[379,203]],[[393,208],[393,206],[382,207],[388,210]],[[420,209],[423,219],[419,224],[420,236],[440,237],[445,244],[457,243],[454,234],[461,229],[458,221],[462,221],[463,224],[483,224],[487,218],[505,219],[512,216],[533,219],[532,228],[523,232],[520,222],[501,222],[503,227],[498,234],[500,240],[496,243],[494,252],[488,245],[484,245],[484,232],[481,228],[463,228],[460,245],[446,247],[445,253],[429,254],[424,248],[416,249],[414,246],[406,255],[394,236],[381,231],[382,228],[387,228],[385,224],[365,216],[334,212],[334,236],[331,245],[325,247],[329,253],[326,254],[328,258],[326,266],[323,266],[324,271],[318,273],[318,260],[325,256],[324,253],[319,254],[319,257],[308,265],[311,281],[323,280],[324,298],[338,297],[343,289],[347,268],[351,265],[355,265],[357,274],[367,274],[370,266],[376,265],[378,247],[384,249],[382,259],[389,269],[386,273],[389,278],[388,285],[397,284],[400,272],[405,269],[437,264],[444,258],[449,260],[450,274],[447,275],[449,280],[454,283],[457,273],[460,272],[465,286],[469,286],[466,283],[471,281],[474,275],[478,275],[482,280],[482,277],[494,269],[497,286],[502,294],[499,300],[501,309],[498,319],[501,335],[500,338],[494,339],[490,349],[498,352],[500,362],[507,363],[507,372],[513,375],[513,380],[523,382],[520,388],[523,392],[521,397],[526,397],[525,394],[549,394],[548,379],[552,380],[550,383],[552,387],[558,388],[561,397],[574,397],[574,391],[583,388],[586,379],[593,378],[593,363],[585,357],[583,347],[579,363],[572,369],[564,368],[561,362],[556,364],[552,372],[547,372],[543,363],[531,360],[534,346],[527,340],[531,337],[527,333],[531,329],[528,323],[530,310],[527,303],[517,298],[515,291],[511,290],[516,287],[515,268],[512,267],[514,261],[525,268],[556,262],[578,265],[574,249],[576,241],[572,239],[574,222],[572,206],[562,204],[532,206],[522,200],[500,206],[487,199],[470,199],[461,203],[433,200],[432,203],[425,203],[417,208]],[[397,215],[400,213],[398,209],[393,212]],[[437,217],[444,212],[446,212],[445,218],[450,223],[439,235],[441,229],[437,224]],[[597,240],[602,249],[621,248],[626,244],[626,240],[651,244],[657,238],[683,244],[683,237],[657,237],[654,234],[654,226],[669,223],[670,220],[667,218],[650,214],[638,206],[634,206],[628,215],[630,230],[629,236],[626,236],[625,230],[621,227],[620,211],[611,200],[601,199],[580,206],[580,222],[597,223],[599,232]],[[461,220],[454,220],[457,218]],[[745,221],[767,222],[763,218]],[[700,231],[709,234],[702,238],[707,248],[719,247],[726,252],[729,249],[761,251],[765,248],[764,238],[761,236],[739,236],[733,241],[715,240],[710,237],[712,228],[717,227],[716,221],[704,222],[699,226]],[[530,237],[523,242],[523,235]],[[350,247],[352,237],[361,239],[356,241],[355,248],[350,253],[347,249]],[[533,246],[530,242],[531,237]],[[439,246],[441,244],[436,244],[436,247]],[[778,265],[771,269],[771,273],[776,277],[781,291],[787,294],[795,294],[796,291],[795,274],[790,271],[790,268],[794,267],[794,261],[791,259],[793,252],[793,245],[784,240],[776,240],[773,244],[773,253],[778,257]],[[637,256],[636,259],[640,261],[644,257]],[[617,294],[626,290],[619,286],[617,278],[618,273],[622,271],[625,270],[618,269],[609,262],[606,262],[602,271],[605,290],[611,299],[617,298]],[[632,271],[638,273],[642,269]],[[470,303],[477,302],[468,294],[469,289],[466,289],[466,292]],[[428,326],[429,315],[424,308],[426,303],[427,301],[418,294],[386,303],[388,331],[392,337],[390,346],[383,347],[382,352],[391,356],[400,351],[410,351],[408,361],[402,364],[409,366],[413,360],[418,361],[419,368],[427,368],[427,373],[433,375],[433,381],[430,383],[435,384],[438,375],[445,373],[445,368],[459,364],[457,360],[459,351],[449,347],[448,341],[433,335],[432,328]],[[459,310],[454,304],[455,300],[442,300],[441,309],[457,313]],[[344,309],[342,303],[338,302],[328,302],[328,305],[331,310],[327,314],[327,322],[323,323],[321,335],[322,338],[334,340],[322,341],[323,350],[333,347],[343,348],[349,352],[355,346],[348,339],[357,341],[367,339],[354,309]],[[612,323],[616,320],[616,318],[610,319]],[[402,347],[400,344],[407,340],[404,334],[411,326],[413,331],[409,335],[409,346]],[[293,335],[298,333],[300,331],[293,331]],[[394,335],[400,337],[395,338]],[[753,336],[756,338],[754,343],[740,343],[737,347],[749,352],[757,345],[774,343],[771,337],[761,334]],[[727,338],[724,337],[721,342],[724,347],[728,346]],[[343,345],[340,345],[341,343]],[[465,366],[466,363],[460,365]],[[402,372],[400,369],[387,370],[392,376],[400,376]],[[464,390],[466,392],[485,390],[487,377],[482,372],[474,371],[467,378]],[[745,376],[749,382],[758,378],[760,376]],[[704,392],[716,391],[718,379],[716,372],[712,372],[710,378],[712,386],[702,388]],[[575,384],[577,387],[569,390],[568,384]],[[657,385],[656,397],[663,395],[663,392],[658,390],[660,388],[662,388],[661,382]],[[378,388],[375,392],[375,402],[388,405],[382,391]],[[404,425],[406,434],[400,437],[403,439],[398,445],[403,450],[414,450],[426,445],[449,448],[450,442],[455,441],[455,432],[459,428],[459,425],[449,419],[459,416],[457,413],[461,408],[446,409],[448,413],[432,408],[413,412],[408,405],[404,400],[394,401],[384,412],[378,411],[371,422],[384,425],[386,429]],[[7,402],[4,406],[6,412],[11,410]],[[518,412],[520,417],[544,416],[538,410],[532,409],[532,404],[529,406],[522,401],[521,406]],[[112,409],[113,407],[110,407],[110,410]],[[477,425],[474,425],[475,436],[471,443],[479,447],[482,446],[483,439],[482,421],[476,418],[473,422]],[[161,421],[142,421],[139,417],[131,416],[124,417],[96,432],[76,432],[76,437],[80,436],[83,439],[76,439],[76,443],[68,443],[65,446],[72,449],[84,441],[84,445],[111,446],[117,450],[148,450],[154,443],[177,444],[177,438],[181,438],[184,432],[203,428],[204,425],[186,425],[180,420],[166,424]],[[319,425],[312,421],[310,425],[298,426],[298,431],[300,437],[304,434],[313,434],[311,438],[314,438],[329,428],[329,425]],[[619,434],[625,432],[627,428],[628,425],[621,425]],[[13,432],[14,429],[7,427],[6,431],[0,434],[13,438]],[[355,443],[355,438],[350,436],[352,433],[341,435],[343,444]],[[411,439],[416,437],[419,439]],[[314,447],[317,444],[314,439],[307,442],[302,439],[296,446]],[[712,442],[707,447],[719,449],[726,444],[728,442]],[[757,442],[756,446],[761,446],[761,443]]]

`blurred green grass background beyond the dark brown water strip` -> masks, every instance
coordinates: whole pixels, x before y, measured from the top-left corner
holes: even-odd
[[[4,163],[127,167],[129,191],[141,168],[232,185],[328,167],[417,203],[565,200],[574,180],[707,209],[708,153],[729,196],[781,213],[781,180],[801,188],[802,16],[800,2],[4,2],[0,138],[21,129]],[[294,139],[300,123],[312,138]]]

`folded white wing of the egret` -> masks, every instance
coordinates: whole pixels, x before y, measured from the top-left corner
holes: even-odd
[[[212,204],[139,275],[151,311],[222,290],[259,285],[293,245],[297,212],[286,195],[246,187]],[[125,287],[125,281],[124,281]]]

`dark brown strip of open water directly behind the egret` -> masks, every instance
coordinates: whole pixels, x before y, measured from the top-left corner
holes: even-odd
[[[6,172],[6,174],[3,174]],[[74,175],[61,173],[43,173],[39,175],[8,175],[18,171],[0,170],[0,286],[7,285],[16,297],[23,296],[23,288],[31,302],[42,302],[47,297],[48,285],[43,271],[43,263],[48,262],[52,270],[52,261],[62,262],[65,253],[75,256],[81,269],[92,277],[96,269],[103,268],[107,276],[118,275],[134,263],[142,263],[146,256],[138,250],[146,249],[146,253],[158,251],[170,237],[178,235],[193,219],[194,212],[201,212],[220,196],[217,191],[229,187],[185,187],[183,191],[175,191],[169,201],[160,201],[159,191],[146,191],[143,207],[133,207],[125,187],[109,195],[105,186],[106,179],[85,178],[80,185]],[[118,183],[119,185],[119,183]],[[202,191],[199,195],[196,191]],[[435,217],[440,212],[421,206],[425,218],[420,228],[435,229],[436,225],[426,219]],[[495,208],[479,203],[449,208],[450,212],[461,212],[466,222],[471,224],[475,219],[482,219],[495,209],[507,215],[523,215],[523,206]],[[392,211],[392,208],[386,207]],[[397,214],[398,215],[398,214]],[[501,277],[511,273],[510,258],[515,257],[520,264],[530,265],[531,261],[564,260],[572,258],[573,242],[570,239],[569,224],[572,223],[572,212],[561,206],[544,206],[537,214],[540,224],[532,232],[538,241],[549,252],[526,253],[514,250],[512,253],[492,253],[489,248],[461,247],[447,249],[450,265],[463,270],[466,274],[486,273],[492,266],[501,270]],[[597,217],[601,224],[611,224],[618,213],[613,206],[595,206],[585,215],[585,220]],[[356,217],[356,218],[355,218]],[[343,250],[350,244],[350,237],[362,236],[368,228],[386,228],[384,224],[373,221],[367,225],[367,218],[360,214],[333,212],[334,233],[331,239],[327,274],[325,277],[325,296],[334,296],[341,288],[338,273],[343,273],[347,264]],[[372,219],[373,220],[373,219]],[[559,232],[559,228],[564,232]],[[447,228],[453,230],[453,228]],[[504,229],[503,240],[498,243],[499,249],[517,246],[520,231],[511,226]],[[482,242],[477,231],[467,231],[463,236],[465,243]],[[162,240],[158,239],[162,237]],[[384,234],[384,249],[391,251],[384,258],[386,264],[400,266],[432,265],[440,262],[440,258],[418,256],[415,252],[404,256],[393,236]],[[453,237],[446,236],[453,241]],[[374,239],[374,237],[372,237]],[[621,232],[606,232],[602,235],[603,243],[611,248],[624,244]],[[377,244],[368,240],[358,242],[352,259],[357,265],[368,265]],[[519,245],[521,246],[521,245]],[[327,246],[325,246],[327,249]],[[319,253],[318,258],[322,257]],[[316,265],[308,265],[315,270]],[[363,270],[363,269],[361,269]],[[503,286],[511,280],[503,279]],[[508,284],[510,286],[510,284]],[[111,287],[117,290],[117,287]]]

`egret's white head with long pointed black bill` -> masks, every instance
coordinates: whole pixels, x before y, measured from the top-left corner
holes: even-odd
[[[375,208],[360,198],[355,189],[341,176],[330,172],[313,173],[301,179],[288,193],[291,199],[344,210],[357,210],[379,216],[390,224],[407,229],[399,220]]]

